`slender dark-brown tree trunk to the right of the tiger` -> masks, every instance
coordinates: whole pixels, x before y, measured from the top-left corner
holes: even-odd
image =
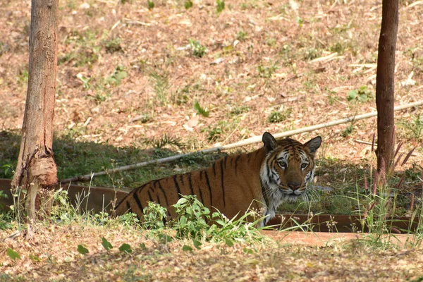
[[[398,30],[398,0],[382,1],[382,25],[376,73],[377,168],[393,165],[395,127],[393,120],[395,52]]]

